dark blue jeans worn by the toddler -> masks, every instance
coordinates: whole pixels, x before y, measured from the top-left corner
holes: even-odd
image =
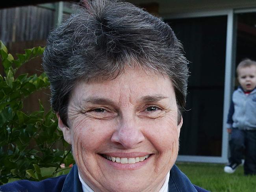
[[[232,129],[229,162],[241,163],[245,158],[245,175],[256,174],[256,130]]]

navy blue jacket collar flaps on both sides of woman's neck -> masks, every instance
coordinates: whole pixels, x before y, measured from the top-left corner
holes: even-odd
[[[174,165],[170,171],[168,187],[169,192],[197,192],[187,176],[184,175],[176,165]],[[76,165],[72,167],[67,175],[61,192],[83,192]]]

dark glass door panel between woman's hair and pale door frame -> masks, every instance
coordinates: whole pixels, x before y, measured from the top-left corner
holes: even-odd
[[[166,20],[189,60],[180,155],[221,156],[226,16]]]

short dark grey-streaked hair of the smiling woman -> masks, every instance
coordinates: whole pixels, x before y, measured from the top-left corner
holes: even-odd
[[[85,5],[50,33],[43,55],[51,104],[63,123],[68,126],[67,106],[77,81],[113,79],[127,65],[169,76],[180,123],[188,69],[182,44],[170,26],[118,0],[93,0]]]

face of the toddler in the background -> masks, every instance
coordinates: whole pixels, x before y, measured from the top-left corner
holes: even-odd
[[[244,91],[253,90],[256,87],[256,66],[239,68],[238,81]]]

